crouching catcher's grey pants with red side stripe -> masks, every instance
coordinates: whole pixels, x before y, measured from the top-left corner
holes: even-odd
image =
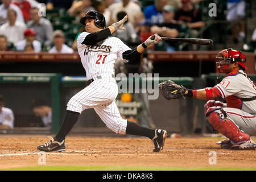
[[[223,107],[223,110],[226,112],[227,118],[233,121],[237,125],[238,129],[249,134],[250,136],[256,135],[256,117],[242,111],[241,109],[236,109],[232,107]],[[214,112],[220,114],[221,110],[215,110]],[[224,118],[224,115],[221,114],[221,118]]]

